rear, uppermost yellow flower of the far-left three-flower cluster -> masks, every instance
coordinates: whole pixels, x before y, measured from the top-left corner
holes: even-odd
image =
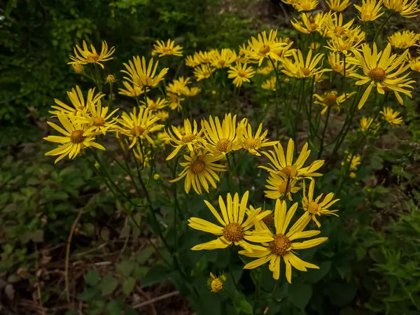
[[[58,106],[51,106],[51,108],[56,109],[56,111],[48,111],[48,113],[52,113],[52,115],[57,115],[58,113],[66,113],[68,116],[85,116],[88,106],[90,106],[90,104],[97,104],[97,102],[99,102],[99,100],[105,96],[105,94],[102,93],[97,93],[95,95],[94,90],[95,88],[89,89],[85,102],[82,90],[80,90],[80,87],[76,85],[76,89],[73,87],[71,92],[67,92],[67,96],[69,97],[73,107],[64,104],[59,99],[54,99],[55,104]]]

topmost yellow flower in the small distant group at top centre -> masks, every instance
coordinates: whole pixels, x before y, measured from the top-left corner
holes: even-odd
[[[251,37],[251,40],[248,41],[249,45],[249,57],[251,59],[258,61],[258,66],[262,64],[265,58],[272,58],[279,60],[280,57],[276,53],[278,50],[288,49],[290,44],[288,43],[278,43],[276,42],[277,31],[271,29],[269,31],[268,37],[265,31],[262,31],[258,34],[258,39]],[[274,50],[276,52],[274,52]]]

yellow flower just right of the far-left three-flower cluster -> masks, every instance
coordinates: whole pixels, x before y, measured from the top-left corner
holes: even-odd
[[[125,134],[131,141],[129,148],[132,148],[139,139],[147,139],[153,146],[153,139],[149,134],[157,132],[164,127],[164,125],[156,124],[158,120],[160,120],[160,118],[154,116],[149,109],[139,107],[139,113],[137,113],[137,107],[134,107],[130,115],[128,113],[123,113],[123,116],[118,119],[118,123],[120,123],[118,132]]]

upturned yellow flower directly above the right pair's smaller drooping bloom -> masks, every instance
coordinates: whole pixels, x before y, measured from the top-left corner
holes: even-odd
[[[266,169],[269,173],[274,173],[282,176],[285,179],[304,179],[312,176],[322,176],[315,171],[323,166],[324,160],[316,160],[308,167],[303,167],[304,162],[309,158],[311,151],[308,150],[308,144],[304,144],[300,155],[295,162],[293,162],[293,151],[295,149],[295,142],[292,139],[288,141],[286,156],[284,155],[283,147],[278,144],[273,151],[262,152],[270,162],[269,167],[260,165],[259,168]]]

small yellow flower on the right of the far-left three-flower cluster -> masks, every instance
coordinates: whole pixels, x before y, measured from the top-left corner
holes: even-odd
[[[87,116],[76,116],[74,119],[75,123],[87,124],[88,127],[91,127],[92,131],[102,132],[102,134],[105,134],[116,125],[116,118],[112,118],[111,121],[109,120],[118,109],[114,109],[107,116],[109,107],[102,107],[100,99],[96,104],[87,104],[87,109],[89,109],[89,114]]]

